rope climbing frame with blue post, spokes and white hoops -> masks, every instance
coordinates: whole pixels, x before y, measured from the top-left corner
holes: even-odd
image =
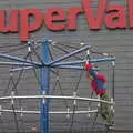
[[[108,79],[109,101],[92,91],[84,64]],[[0,133],[113,132],[100,105],[109,105],[114,124],[115,58],[83,42],[48,39],[1,48]]]

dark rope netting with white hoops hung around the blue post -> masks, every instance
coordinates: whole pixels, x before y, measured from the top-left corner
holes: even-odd
[[[50,60],[69,54],[79,50],[84,43],[63,44],[50,40]],[[7,50],[2,48],[4,54],[12,54],[23,58],[30,63],[40,62],[40,42],[30,42],[24,47],[12,45]],[[85,45],[85,44],[84,44]],[[64,62],[88,60],[86,50],[65,59]],[[91,59],[103,58],[104,54],[91,48]],[[106,57],[105,57],[106,58]],[[8,62],[9,59],[1,61]],[[12,61],[10,61],[12,63]],[[21,63],[21,62],[20,62]],[[110,101],[109,109],[113,112],[113,69],[111,62],[95,63],[100,68],[100,73],[108,78],[108,93]],[[84,63],[78,66],[84,68]],[[85,75],[84,69],[50,69],[49,96],[40,94],[42,83],[40,81],[40,69],[25,66],[25,63],[0,66],[0,132],[1,133],[28,133],[40,132],[40,102],[49,100],[49,130],[50,132],[109,132],[105,121],[101,116],[100,100],[90,86],[90,81]],[[33,98],[30,98],[30,96]],[[40,95],[40,98],[38,96]],[[9,98],[8,98],[9,96]],[[18,98],[16,98],[18,96]],[[21,98],[19,98],[21,96]],[[81,99],[84,98],[84,99]],[[91,99],[91,100],[89,100]],[[94,100],[98,100],[94,102]],[[114,115],[112,114],[112,122]]]

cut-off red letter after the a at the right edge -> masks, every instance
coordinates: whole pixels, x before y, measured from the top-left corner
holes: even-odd
[[[127,0],[127,2],[129,2],[130,27],[133,28],[133,0]]]

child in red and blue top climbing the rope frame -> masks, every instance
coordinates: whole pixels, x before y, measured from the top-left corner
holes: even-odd
[[[93,70],[93,65],[89,62],[85,63],[85,71],[88,78],[91,80],[92,90],[100,96],[101,100],[108,101],[105,76],[95,72]],[[101,115],[106,121],[106,125],[111,125],[109,105],[106,103],[101,102]]]

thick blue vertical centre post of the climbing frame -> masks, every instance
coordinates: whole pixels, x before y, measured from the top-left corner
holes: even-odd
[[[43,63],[49,63],[49,41],[43,39],[41,45],[41,58]],[[49,66],[43,66],[40,69],[40,80],[41,80],[41,94],[49,94],[49,78],[50,69]],[[40,133],[49,133],[49,100],[42,99],[40,103]]]

